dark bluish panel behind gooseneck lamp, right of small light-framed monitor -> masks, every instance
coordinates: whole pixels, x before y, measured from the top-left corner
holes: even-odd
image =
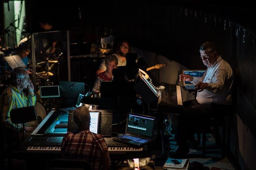
[[[60,88],[60,97],[66,99],[77,99],[79,94],[85,94],[84,84],[77,84],[73,87],[70,87],[74,83],[82,83],[82,82],[67,82],[67,81],[60,81],[59,88]]]

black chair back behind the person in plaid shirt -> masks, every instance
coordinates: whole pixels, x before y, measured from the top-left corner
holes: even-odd
[[[64,158],[57,158],[52,160],[51,170],[90,170],[91,165],[87,160],[83,159],[64,159]]]

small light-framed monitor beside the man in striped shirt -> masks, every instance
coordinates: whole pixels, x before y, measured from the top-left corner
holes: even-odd
[[[59,86],[40,86],[40,98],[60,97]]]

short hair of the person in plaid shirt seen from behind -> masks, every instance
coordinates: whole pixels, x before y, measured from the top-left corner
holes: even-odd
[[[80,106],[74,110],[73,119],[77,128],[90,125],[90,112],[87,107]]]

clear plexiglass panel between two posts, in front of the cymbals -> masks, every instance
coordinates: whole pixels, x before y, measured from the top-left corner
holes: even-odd
[[[34,33],[32,37],[34,84],[58,85],[68,81],[68,31]]]

